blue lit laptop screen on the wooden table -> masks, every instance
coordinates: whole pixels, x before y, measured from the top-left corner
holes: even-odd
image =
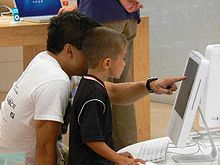
[[[56,15],[62,7],[60,0],[14,0],[20,17]]]

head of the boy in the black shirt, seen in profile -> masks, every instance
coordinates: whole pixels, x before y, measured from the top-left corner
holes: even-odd
[[[89,69],[101,69],[109,77],[120,78],[125,66],[126,37],[115,30],[97,27],[89,30],[82,40]]]

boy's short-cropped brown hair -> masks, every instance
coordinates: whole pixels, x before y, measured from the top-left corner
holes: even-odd
[[[106,27],[89,30],[82,40],[82,52],[86,55],[90,68],[96,67],[101,59],[117,58],[126,47],[126,37]]]

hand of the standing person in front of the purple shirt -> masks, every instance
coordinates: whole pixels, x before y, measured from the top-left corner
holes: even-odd
[[[143,5],[140,3],[140,0],[119,0],[124,9],[133,13],[138,11],[140,8],[143,8]]]

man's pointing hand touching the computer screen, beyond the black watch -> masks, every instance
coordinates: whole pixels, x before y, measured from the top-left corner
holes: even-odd
[[[185,80],[186,77],[172,77],[172,78],[164,78],[156,81],[152,81],[150,83],[151,89],[156,94],[167,94],[171,95],[173,91],[176,91],[177,86],[176,82]]]

